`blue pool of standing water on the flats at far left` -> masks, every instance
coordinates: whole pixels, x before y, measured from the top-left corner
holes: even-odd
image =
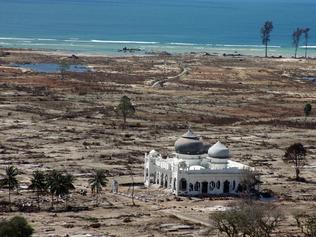
[[[41,73],[59,73],[60,65],[56,63],[31,63],[31,64],[13,64],[12,67],[30,69]],[[71,64],[67,72],[91,72],[91,69],[82,64]]]

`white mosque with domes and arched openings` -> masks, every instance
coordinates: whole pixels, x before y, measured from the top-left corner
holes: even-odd
[[[155,150],[145,154],[144,184],[177,196],[237,194],[243,171],[251,168],[229,158],[221,142],[210,147],[189,129],[175,142],[172,157]]]

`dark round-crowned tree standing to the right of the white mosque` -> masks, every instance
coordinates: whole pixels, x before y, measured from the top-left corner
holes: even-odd
[[[295,179],[300,180],[301,169],[306,164],[306,149],[301,143],[294,143],[289,146],[284,154],[283,160],[294,165]]]

